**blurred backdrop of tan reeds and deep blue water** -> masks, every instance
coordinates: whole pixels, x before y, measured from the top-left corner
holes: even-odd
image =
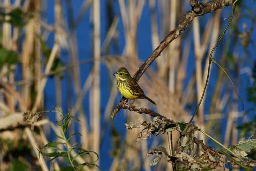
[[[234,81],[245,111],[224,73],[213,65],[195,119],[226,146],[256,135],[255,8],[254,1],[239,1],[213,56]],[[102,170],[169,169],[162,161],[150,167],[152,157],[146,156],[158,144],[167,148],[166,136],[135,142],[139,131],[125,129],[124,123],[150,120],[148,116],[126,111],[110,119],[120,100],[112,73],[124,66],[134,74],[190,9],[189,1],[176,0],[1,0],[0,170],[70,170],[65,159],[38,157],[38,149],[58,140],[58,113],[23,120],[25,112],[54,106],[81,121],[72,122],[67,134],[81,133],[70,141],[97,152]],[[209,52],[230,15],[231,7],[225,7],[195,18],[139,80],[157,105],[143,100],[135,105],[188,122],[202,94]],[[174,142],[178,135],[174,133]],[[249,156],[256,159],[256,151]],[[81,157],[75,162],[88,161]]]

